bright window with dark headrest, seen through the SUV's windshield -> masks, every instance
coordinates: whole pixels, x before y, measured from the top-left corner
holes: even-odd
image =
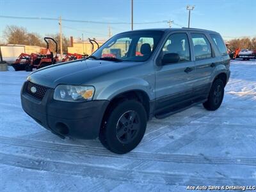
[[[152,48],[154,46],[154,38],[152,37],[141,37],[138,40],[138,44],[136,46],[136,56],[144,56],[150,54]]]

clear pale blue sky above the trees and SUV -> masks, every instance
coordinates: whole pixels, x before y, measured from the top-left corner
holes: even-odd
[[[218,31],[224,38],[256,35],[256,1],[171,1],[134,0],[134,22],[174,20],[173,28],[188,26],[186,5],[195,5],[191,12],[191,28]],[[104,22],[131,22],[131,0],[22,1],[0,0],[0,15],[16,17],[51,17]],[[6,25],[23,26],[29,32],[44,36],[58,33],[57,20],[22,20],[0,17],[0,36]],[[129,24],[110,24],[113,35],[131,29]],[[166,22],[134,24],[134,29],[167,28]],[[108,24],[63,21],[63,33],[77,38],[108,38]]]

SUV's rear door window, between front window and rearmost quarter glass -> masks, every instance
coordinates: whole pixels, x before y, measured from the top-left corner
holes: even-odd
[[[204,34],[191,33],[196,60],[212,57],[211,44]]]

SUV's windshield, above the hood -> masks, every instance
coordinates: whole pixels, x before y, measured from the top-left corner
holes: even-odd
[[[163,33],[163,31],[120,33],[97,49],[92,54],[92,58],[113,61],[116,59],[118,61],[146,61],[156,49]]]

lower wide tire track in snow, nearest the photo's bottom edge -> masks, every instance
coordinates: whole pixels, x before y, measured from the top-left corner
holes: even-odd
[[[0,152],[1,164],[26,168],[30,170],[40,170],[45,172],[61,173],[66,175],[76,175],[95,179],[110,179],[119,182],[138,182],[150,184],[169,185],[227,185],[230,183],[245,184],[255,182],[253,178],[225,178],[225,177],[202,177],[201,175],[172,173],[172,172],[152,172],[145,170],[124,170],[99,165],[74,164],[62,161],[49,161],[28,156],[17,156]],[[98,186],[96,186],[98,188]]]

